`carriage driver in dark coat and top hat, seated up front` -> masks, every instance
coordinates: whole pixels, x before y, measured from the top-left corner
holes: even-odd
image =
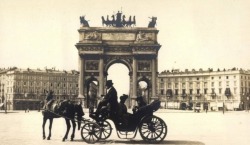
[[[99,113],[103,106],[107,106],[110,104],[110,111],[115,114],[118,110],[118,102],[117,102],[117,92],[113,87],[112,80],[107,80],[106,82],[107,94],[104,96],[104,99],[98,104],[96,113]]]

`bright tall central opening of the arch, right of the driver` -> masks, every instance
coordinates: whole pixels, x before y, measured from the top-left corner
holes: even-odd
[[[122,94],[129,95],[130,87],[130,76],[129,69],[122,63],[114,63],[108,68],[107,80],[112,80],[114,87],[117,91],[118,102],[120,102],[120,96]],[[125,104],[129,106],[129,98]]]

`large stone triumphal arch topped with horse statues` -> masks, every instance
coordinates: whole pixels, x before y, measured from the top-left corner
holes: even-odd
[[[150,100],[156,99],[158,30],[156,17],[146,27],[136,27],[134,17],[118,12],[112,20],[102,18],[102,27],[90,27],[84,16],[80,17],[79,42],[75,45],[79,54],[79,96],[87,99],[89,83],[97,82],[97,95],[106,93],[107,71],[115,63],[124,64],[129,70],[129,106],[135,104],[139,82],[147,83]]]

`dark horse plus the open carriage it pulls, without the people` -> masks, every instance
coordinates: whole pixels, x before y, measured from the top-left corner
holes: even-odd
[[[133,139],[139,131],[144,141],[148,143],[159,143],[164,140],[167,135],[166,123],[161,118],[153,115],[153,113],[160,108],[159,100],[139,108],[133,114],[126,113],[118,115],[115,112],[111,112],[106,106],[103,107],[99,113],[90,112],[89,116],[93,120],[82,117],[84,113],[81,105],[73,105],[70,101],[55,103],[52,108],[51,110],[43,111],[43,139],[46,138],[44,129],[46,120],[50,120],[49,136],[47,137],[49,140],[51,137],[53,118],[59,117],[63,117],[67,124],[67,131],[63,137],[63,141],[68,137],[70,121],[73,124],[71,140],[74,139],[75,127],[76,123],[78,123],[78,130],[80,130],[81,127],[81,137],[87,143],[95,143],[110,137],[113,128],[107,120],[111,120],[114,123],[117,135],[121,139]],[[76,121],[75,115],[77,115]],[[83,123],[83,126],[81,126],[81,123]]]

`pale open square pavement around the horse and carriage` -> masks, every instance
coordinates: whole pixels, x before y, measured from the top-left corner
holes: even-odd
[[[86,113],[86,118],[88,114]],[[161,144],[167,145],[249,145],[250,113],[201,112],[159,110],[156,116],[168,125],[168,134]],[[0,110],[1,145],[82,145],[85,143],[76,130],[75,140],[62,142],[66,130],[64,119],[54,119],[51,140],[42,139],[42,114],[37,111],[15,111],[5,114]],[[48,122],[46,125],[48,134]],[[69,137],[71,130],[69,133]],[[134,140],[121,140],[115,130],[106,141],[96,144],[146,144],[137,134]]]

